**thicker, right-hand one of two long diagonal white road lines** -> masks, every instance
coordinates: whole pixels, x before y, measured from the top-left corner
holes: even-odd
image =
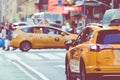
[[[21,65],[23,65],[24,67],[26,67],[27,69],[29,69],[30,71],[32,71],[33,73],[35,73],[36,75],[38,75],[40,78],[42,78],[42,80],[49,80],[44,74],[38,72],[37,70],[35,70],[34,68],[30,67],[29,65],[23,63],[20,60],[17,60]]]

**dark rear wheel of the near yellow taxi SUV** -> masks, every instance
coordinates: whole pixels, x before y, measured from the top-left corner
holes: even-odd
[[[83,60],[80,61],[80,80],[87,80],[87,74]]]

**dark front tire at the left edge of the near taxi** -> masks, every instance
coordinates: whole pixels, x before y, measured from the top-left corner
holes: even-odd
[[[75,76],[74,77],[71,76],[70,66],[67,57],[65,60],[65,73],[66,73],[66,80],[77,80]]]

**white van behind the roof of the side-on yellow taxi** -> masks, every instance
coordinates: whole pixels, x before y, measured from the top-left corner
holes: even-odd
[[[34,13],[32,19],[37,20],[39,23],[47,20],[50,24],[63,25],[63,15],[53,12],[39,12]]]

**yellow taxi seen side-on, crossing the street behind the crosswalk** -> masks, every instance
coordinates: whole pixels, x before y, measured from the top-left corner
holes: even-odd
[[[27,52],[30,49],[65,48],[67,39],[76,39],[77,34],[64,32],[48,25],[18,27],[12,34],[10,46]]]

